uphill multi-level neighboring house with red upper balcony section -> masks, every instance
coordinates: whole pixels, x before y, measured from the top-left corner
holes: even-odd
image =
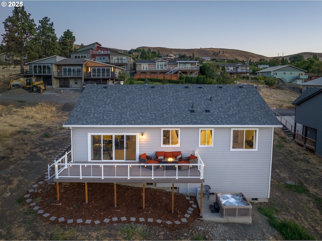
[[[77,49],[76,52],[70,54],[70,58],[92,59],[101,63],[112,64],[125,69],[126,73],[130,73],[133,69],[133,59],[130,55],[102,47],[97,42]]]

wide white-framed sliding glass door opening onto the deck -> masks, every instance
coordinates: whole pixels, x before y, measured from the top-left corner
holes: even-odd
[[[89,134],[91,161],[135,161],[138,134]]]

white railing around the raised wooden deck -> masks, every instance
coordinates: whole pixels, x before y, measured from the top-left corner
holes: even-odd
[[[203,179],[204,163],[198,153],[197,164],[74,163],[68,162],[69,153],[48,165],[48,179]],[[181,166],[188,166],[188,169],[181,170]]]

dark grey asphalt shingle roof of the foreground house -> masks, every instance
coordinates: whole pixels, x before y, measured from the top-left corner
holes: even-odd
[[[280,123],[253,85],[147,84],[89,85],[65,123],[67,127],[186,125]]]

